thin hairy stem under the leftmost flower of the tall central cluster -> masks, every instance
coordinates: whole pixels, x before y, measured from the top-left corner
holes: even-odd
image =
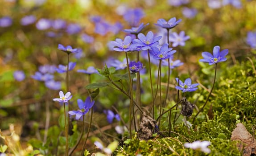
[[[128,75],[129,75],[129,81],[130,81],[130,109],[129,109],[129,132],[130,132],[130,137],[132,138],[132,120],[131,116],[133,117],[133,123],[134,123],[134,129],[136,131],[136,119],[135,119],[135,113],[134,113],[134,107],[133,107],[133,95],[132,95],[132,78],[131,78],[131,73],[130,73],[130,68],[129,68],[129,61],[128,61],[128,54],[125,52],[125,57],[126,57],[126,62],[127,62],[127,69],[128,69]]]

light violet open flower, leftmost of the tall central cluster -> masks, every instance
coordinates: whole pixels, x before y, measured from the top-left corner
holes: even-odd
[[[115,51],[124,51],[128,52],[131,51],[131,42],[132,42],[132,37],[126,36],[124,37],[124,41],[121,40],[120,38],[117,38],[116,41],[111,41],[110,43],[114,45],[113,50]]]

